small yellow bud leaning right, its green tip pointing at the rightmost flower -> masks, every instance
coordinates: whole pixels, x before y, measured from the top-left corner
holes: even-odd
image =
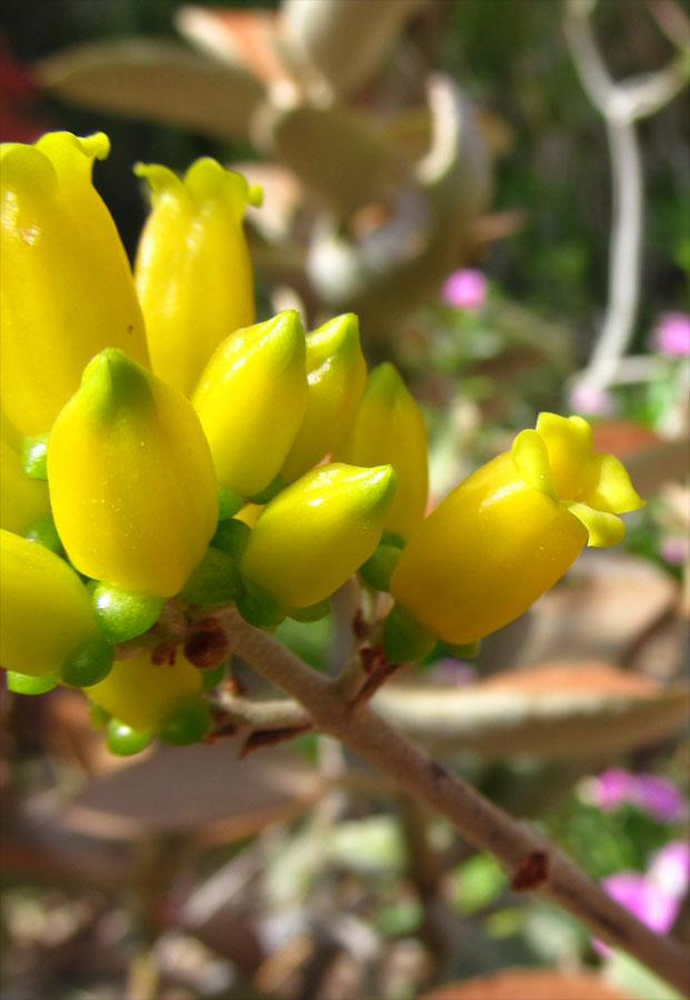
[[[322,601],[378,546],[394,492],[390,466],[312,469],[262,511],[244,549],[243,574],[288,608]]]

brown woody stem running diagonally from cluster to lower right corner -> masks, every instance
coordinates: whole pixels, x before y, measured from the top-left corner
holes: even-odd
[[[271,636],[247,624],[233,608],[223,609],[220,618],[233,651],[300,701],[318,730],[340,739],[403,791],[446,817],[467,840],[497,857],[513,888],[539,890],[598,938],[686,990],[688,952],[677,941],[646,928],[558,848],[431,760],[369,706],[353,711],[340,697],[337,683],[311,670]]]

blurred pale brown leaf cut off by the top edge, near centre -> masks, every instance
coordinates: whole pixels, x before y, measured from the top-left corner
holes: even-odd
[[[330,88],[348,93],[383,67],[404,22],[429,0],[284,0],[286,38]]]

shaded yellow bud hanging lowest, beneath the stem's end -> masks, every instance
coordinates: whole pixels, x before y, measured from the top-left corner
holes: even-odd
[[[201,670],[178,649],[162,662],[154,662],[150,653],[116,660],[108,677],[92,684],[87,693],[120,722],[142,730],[158,726],[166,716],[197,694],[201,683]]]

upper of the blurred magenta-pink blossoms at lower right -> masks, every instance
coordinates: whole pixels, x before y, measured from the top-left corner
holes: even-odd
[[[586,786],[586,797],[606,812],[622,802],[632,802],[660,822],[677,822],[687,810],[684,796],[668,778],[659,774],[632,774],[622,768],[609,768]]]

